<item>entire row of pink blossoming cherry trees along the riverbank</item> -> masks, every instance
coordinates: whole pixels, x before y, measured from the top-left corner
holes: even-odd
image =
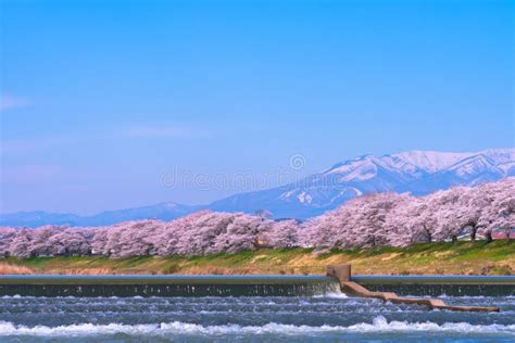
[[[101,228],[0,228],[0,255],[203,255],[263,246],[285,249],[405,246],[467,233],[491,239],[515,227],[515,179],[456,187],[426,196],[356,198],[312,220],[274,221],[243,213],[198,212],[172,221],[126,221]]]

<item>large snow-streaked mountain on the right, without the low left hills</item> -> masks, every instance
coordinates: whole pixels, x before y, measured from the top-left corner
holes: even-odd
[[[298,182],[237,194],[210,205],[217,211],[271,211],[275,217],[307,218],[366,193],[427,194],[452,186],[476,186],[515,176],[515,149],[477,153],[410,151],[364,155],[335,164]]]

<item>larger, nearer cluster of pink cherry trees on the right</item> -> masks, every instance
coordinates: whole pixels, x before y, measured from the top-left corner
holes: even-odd
[[[307,242],[314,246],[352,247],[455,240],[493,230],[510,238],[515,228],[515,179],[476,188],[455,187],[415,198],[379,193],[361,196],[307,224]]]

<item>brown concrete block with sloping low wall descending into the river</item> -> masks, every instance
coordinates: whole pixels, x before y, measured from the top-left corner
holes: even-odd
[[[341,291],[348,295],[362,296],[362,297],[375,297],[380,298],[385,302],[391,302],[394,304],[417,304],[426,305],[431,309],[450,309],[460,312],[499,312],[499,307],[493,306],[454,306],[448,305],[439,298],[425,298],[425,297],[406,297],[399,296],[393,292],[372,292],[351,280],[351,266],[350,265],[337,265],[327,267],[327,276],[338,279],[340,282]]]

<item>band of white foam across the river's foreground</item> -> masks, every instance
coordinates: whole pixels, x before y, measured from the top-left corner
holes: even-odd
[[[254,326],[201,326],[180,321],[163,322],[155,325],[93,325],[80,323],[60,327],[26,327],[16,326],[12,322],[0,321],[1,336],[55,336],[55,338],[80,338],[95,335],[110,335],[125,333],[129,335],[146,336],[169,336],[169,335],[241,335],[241,334],[276,334],[276,335],[316,335],[325,332],[341,333],[366,333],[366,332],[444,332],[444,333],[480,333],[480,334],[504,334],[514,336],[515,325],[470,325],[467,322],[447,322],[438,325],[435,322],[407,322],[387,321],[382,316],[374,318],[372,323],[362,322],[349,327],[340,326],[293,326],[269,322],[261,327]]]

